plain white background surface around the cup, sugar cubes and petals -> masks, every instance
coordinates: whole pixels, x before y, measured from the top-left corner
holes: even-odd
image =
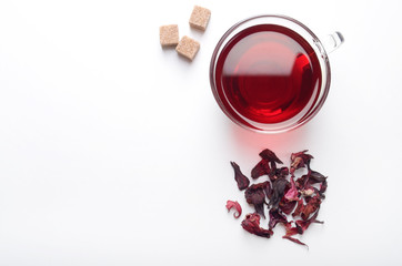
[[[240,129],[210,91],[218,40],[261,13],[345,37],[323,109],[285,134]],[[161,49],[170,23],[193,62]],[[401,265],[401,24],[399,1],[1,0],[0,265]],[[329,176],[309,250],[224,207],[252,211],[229,162],[249,174],[264,147]]]

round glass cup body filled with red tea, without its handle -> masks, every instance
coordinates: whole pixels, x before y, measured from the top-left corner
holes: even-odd
[[[326,52],[299,21],[260,16],[234,24],[212,54],[210,82],[222,111],[242,127],[280,133],[310,121],[331,81]]]

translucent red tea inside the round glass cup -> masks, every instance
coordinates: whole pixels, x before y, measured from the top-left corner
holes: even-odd
[[[281,123],[308,113],[319,95],[314,50],[294,31],[260,24],[233,37],[217,62],[215,84],[227,112],[249,124]]]

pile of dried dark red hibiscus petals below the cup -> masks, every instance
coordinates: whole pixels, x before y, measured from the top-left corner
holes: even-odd
[[[285,228],[285,239],[300,245],[305,245],[293,236],[303,234],[311,223],[323,223],[316,219],[322,200],[325,198],[326,176],[311,170],[310,161],[313,158],[306,154],[306,150],[292,153],[290,168],[278,167],[283,164],[277,155],[265,149],[260,153],[261,161],[252,168],[253,180],[268,175],[269,180],[262,183],[250,185],[250,180],[240,171],[237,163],[231,162],[234,170],[234,180],[240,191],[244,191],[245,201],[253,205],[255,213],[247,214],[241,226],[251,234],[271,237],[277,224]],[[295,177],[295,171],[306,168],[306,174]],[[288,181],[288,176],[290,178]],[[268,201],[267,201],[268,198]],[[260,226],[261,216],[265,218],[265,206],[269,209],[268,229]],[[237,209],[234,217],[241,216],[241,206],[238,202],[228,201],[227,208]],[[294,221],[289,221],[292,217]],[[300,218],[298,218],[300,217]]]

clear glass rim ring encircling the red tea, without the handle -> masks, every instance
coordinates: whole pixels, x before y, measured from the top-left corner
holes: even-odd
[[[252,127],[252,126],[243,124],[240,121],[238,121],[237,119],[234,119],[232,116],[232,114],[230,114],[229,111],[225,110],[225,108],[223,108],[222,100],[218,95],[218,89],[215,86],[215,63],[217,63],[217,60],[218,60],[218,58],[220,55],[220,50],[222,48],[222,44],[225,41],[228,41],[228,37],[233,31],[235,31],[238,28],[240,28],[244,23],[248,23],[249,21],[252,21],[252,20],[263,19],[263,18],[269,18],[269,19],[271,19],[271,18],[275,19],[277,18],[277,19],[287,20],[287,21],[290,21],[290,22],[301,27],[303,30],[305,30],[305,32],[308,34],[310,34],[310,37],[313,39],[314,44],[316,44],[316,48],[318,48],[316,50],[320,52],[318,54],[318,58],[320,58],[320,55],[321,55],[321,58],[323,59],[322,68],[325,68],[325,71],[326,71],[325,82],[324,82],[324,84],[321,85],[321,89],[323,90],[322,95],[319,99],[318,103],[313,106],[313,110],[311,112],[308,112],[305,115],[303,115],[303,117],[301,117],[297,123],[294,123],[292,125],[282,126],[281,129],[273,129],[273,130]],[[259,24],[259,23],[255,23],[255,25],[257,24]],[[305,38],[303,37],[303,39],[305,39]],[[312,48],[314,49],[314,47],[312,47]],[[321,63],[320,63],[320,65],[321,65]],[[283,14],[259,14],[259,16],[249,17],[249,18],[247,18],[244,20],[241,20],[241,21],[234,23],[231,28],[229,28],[229,30],[227,30],[227,32],[220,38],[219,42],[217,43],[217,45],[215,45],[215,48],[213,50],[212,57],[211,57],[210,71],[209,72],[210,72],[210,85],[211,85],[212,93],[213,93],[213,95],[214,95],[214,98],[215,98],[215,100],[218,102],[218,105],[224,112],[224,114],[231,121],[233,121],[235,124],[240,125],[243,129],[251,130],[253,132],[267,133],[267,134],[289,132],[289,131],[292,131],[294,129],[300,127],[301,125],[303,125],[306,122],[309,122],[310,120],[312,120],[316,115],[316,113],[321,110],[322,105],[324,104],[324,102],[326,100],[326,96],[329,94],[330,84],[331,84],[331,66],[330,66],[328,53],[326,53],[322,42],[320,41],[320,39],[305,24],[303,24],[299,20],[295,20],[295,19],[293,19],[291,17],[283,16]],[[324,74],[322,74],[322,75],[324,75]]]

